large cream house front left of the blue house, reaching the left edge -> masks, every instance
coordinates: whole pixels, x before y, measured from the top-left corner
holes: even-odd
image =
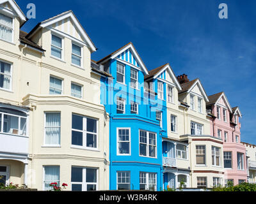
[[[109,117],[96,48],[72,11],[20,31],[24,13],[0,1],[0,175],[48,190],[109,187]],[[93,64],[94,68],[91,68]],[[96,71],[93,71],[96,70]]]

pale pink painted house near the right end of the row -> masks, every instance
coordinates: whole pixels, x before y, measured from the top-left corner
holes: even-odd
[[[211,135],[223,140],[225,184],[247,182],[246,148],[241,143],[242,116],[238,107],[232,108],[224,92],[208,96],[207,111],[212,118]],[[223,183],[224,184],[224,183]]]

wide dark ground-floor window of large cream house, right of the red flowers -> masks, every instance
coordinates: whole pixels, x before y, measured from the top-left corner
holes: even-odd
[[[97,168],[84,168],[72,166],[71,188],[72,191],[97,191]]]

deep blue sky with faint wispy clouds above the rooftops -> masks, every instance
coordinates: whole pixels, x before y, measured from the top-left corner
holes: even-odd
[[[73,10],[92,38],[99,60],[129,41],[148,69],[169,62],[175,75],[200,78],[208,95],[224,91],[243,113],[243,142],[256,143],[256,1],[250,0],[17,0],[26,14],[36,4],[36,19]],[[218,18],[227,3],[228,19]]]

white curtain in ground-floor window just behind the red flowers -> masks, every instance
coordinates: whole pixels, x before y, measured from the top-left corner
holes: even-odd
[[[49,186],[52,182],[57,182],[58,186],[60,185],[60,166],[45,166],[44,172],[45,191],[52,189],[52,187]]]

